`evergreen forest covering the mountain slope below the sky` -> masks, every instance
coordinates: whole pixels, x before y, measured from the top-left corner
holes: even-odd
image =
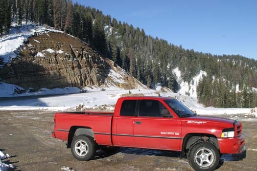
[[[177,92],[180,86],[173,69],[178,67],[185,82],[197,84],[199,103],[257,107],[254,59],[184,49],[72,0],[0,0],[0,36],[8,34],[12,22],[17,28],[23,22],[46,24],[78,37],[150,88],[161,83]],[[200,70],[207,75],[193,83]]]

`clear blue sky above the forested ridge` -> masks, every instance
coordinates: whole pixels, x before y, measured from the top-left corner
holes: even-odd
[[[73,0],[143,28],[146,35],[211,54],[257,60],[257,0]]]

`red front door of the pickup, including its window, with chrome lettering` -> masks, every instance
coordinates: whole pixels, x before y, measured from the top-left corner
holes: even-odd
[[[141,100],[134,118],[135,147],[179,150],[181,121],[164,117],[167,108],[158,100]]]

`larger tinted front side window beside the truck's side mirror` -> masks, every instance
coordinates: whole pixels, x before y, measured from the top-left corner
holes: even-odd
[[[164,117],[167,111],[164,105],[157,100],[141,100],[139,108],[139,116]]]

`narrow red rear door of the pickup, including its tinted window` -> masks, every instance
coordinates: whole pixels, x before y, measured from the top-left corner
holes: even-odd
[[[124,100],[118,117],[113,120],[113,144],[134,147],[134,118],[137,100]]]

